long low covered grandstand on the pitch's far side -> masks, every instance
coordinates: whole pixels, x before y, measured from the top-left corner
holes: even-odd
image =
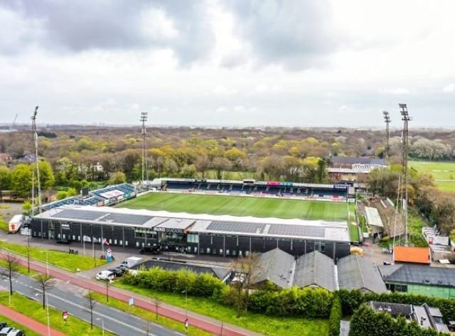
[[[256,180],[208,180],[197,178],[157,178],[151,185],[159,190],[193,193],[227,193],[255,196],[348,199],[346,184],[314,184]]]

